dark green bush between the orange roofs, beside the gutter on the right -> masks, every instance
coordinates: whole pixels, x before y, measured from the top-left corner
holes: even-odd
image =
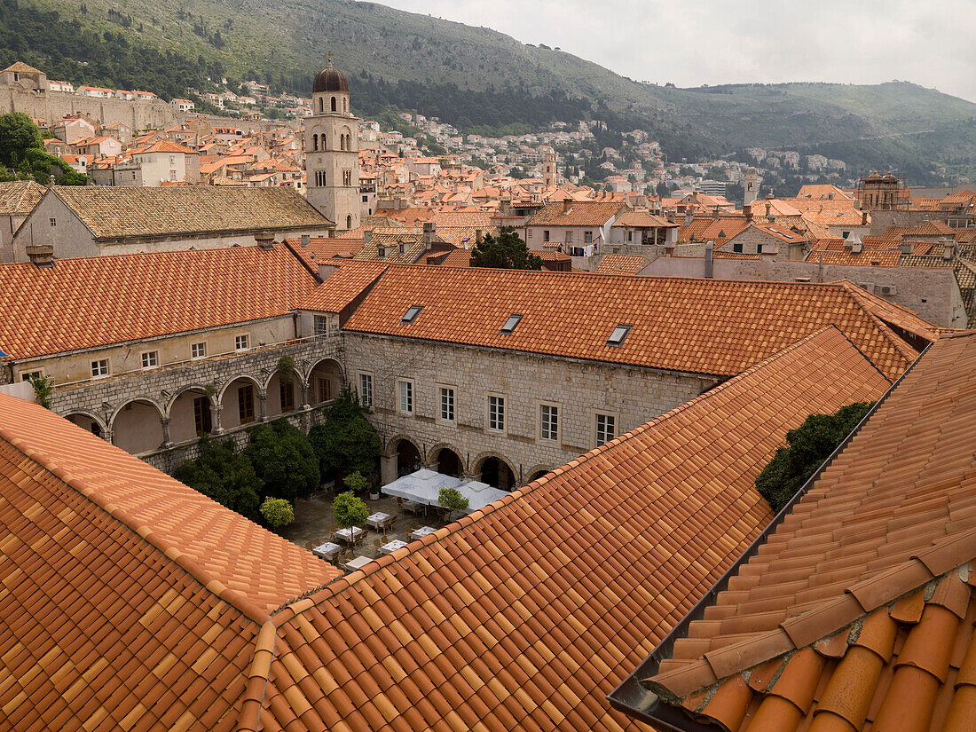
[[[868,414],[874,402],[856,402],[830,414],[812,414],[802,425],[787,432],[788,446],[776,455],[755,478],[755,488],[773,511],[790,503],[817,468],[831,457],[837,445]]]

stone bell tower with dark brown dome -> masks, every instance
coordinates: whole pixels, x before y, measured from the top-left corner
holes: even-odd
[[[329,65],[315,76],[305,118],[308,203],[345,231],[359,225],[359,118],[349,111],[346,74]]]

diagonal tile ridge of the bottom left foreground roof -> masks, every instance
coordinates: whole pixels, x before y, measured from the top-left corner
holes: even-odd
[[[0,427],[0,439],[14,447],[25,458],[32,460],[50,472],[86,500],[102,508],[114,520],[126,526],[133,533],[138,534],[142,541],[151,545],[154,549],[157,549],[166,556],[167,559],[179,565],[184,572],[199,582],[204,590],[215,594],[255,623],[263,625],[267,621],[267,612],[262,611],[258,604],[251,600],[251,598],[237,590],[228,588],[218,577],[211,575],[210,572],[197,564],[179,548],[165,541],[159,534],[153,531],[151,526],[137,521],[126,509],[119,508],[105,501],[102,494],[90,486],[88,481],[72,475],[67,468],[63,468],[57,462],[54,462],[48,454],[23,446],[23,440],[18,437],[11,437],[3,427]],[[135,459],[138,460],[138,458]]]

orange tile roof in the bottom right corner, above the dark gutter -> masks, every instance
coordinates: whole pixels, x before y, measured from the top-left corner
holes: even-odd
[[[974,404],[976,332],[941,339],[674,643],[661,703],[733,732],[972,729]]]

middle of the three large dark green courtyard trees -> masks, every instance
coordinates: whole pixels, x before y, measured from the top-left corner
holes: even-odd
[[[308,437],[284,418],[251,432],[251,444],[244,455],[264,481],[264,491],[273,498],[305,498],[322,482]]]

